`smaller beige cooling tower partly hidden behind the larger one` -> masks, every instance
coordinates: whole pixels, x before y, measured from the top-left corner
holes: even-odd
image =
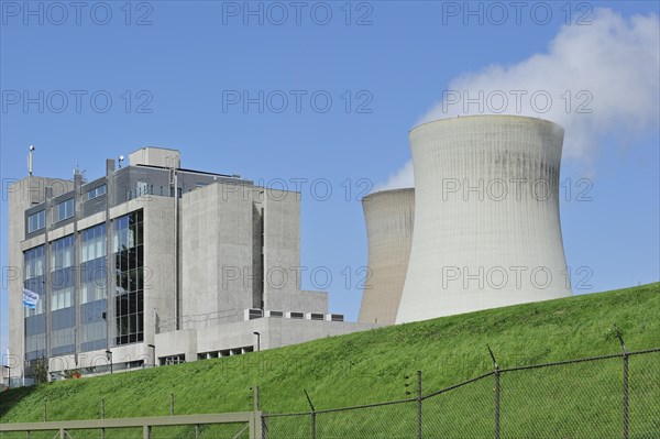
[[[395,322],[404,290],[415,212],[415,189],[384,190],[362,199],[369,274],[359,321]]]

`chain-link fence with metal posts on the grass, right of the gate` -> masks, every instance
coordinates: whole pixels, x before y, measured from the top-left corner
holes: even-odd
[[[660,438],[660,348],[499,369],[409,399],[263,414],[262,439]]]

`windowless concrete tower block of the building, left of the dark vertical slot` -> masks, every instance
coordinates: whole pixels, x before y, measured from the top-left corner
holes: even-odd
[[[180,200],[183,315],[237,321],[255,305],[253,204],[233,189],[217,183]]]

